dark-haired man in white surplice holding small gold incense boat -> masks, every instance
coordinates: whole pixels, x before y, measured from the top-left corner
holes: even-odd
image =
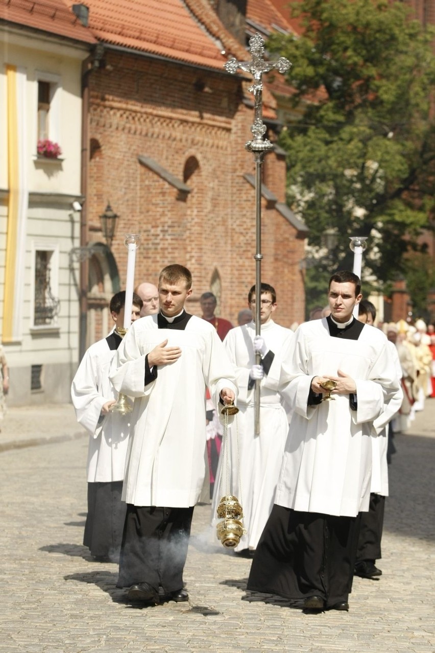
[[[358,532],[367,511],[373,426],[399,391],[383,333],[353,317],[353,272],[333,274],[331,315],[300,325],[281,381],[292,407],[275,505],[252,562],[248,590],[349,609]],[[335,383],[327,400],[327,381]]]

